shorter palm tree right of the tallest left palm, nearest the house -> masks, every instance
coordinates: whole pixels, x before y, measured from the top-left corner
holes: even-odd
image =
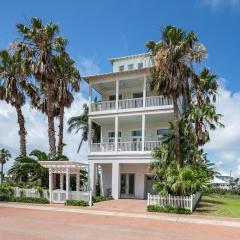
[[[70,107],[74,97],[72,92],[79,92],[80,74],[75,68],[75,62],[69,57],[67,53],[63,53],[55,58],[58,66],[59,77],[57,79],[56,101],[59,108],[59,125],[58,125],[58,153],[62,155],[63,152],[63,121],[64,108]]]

